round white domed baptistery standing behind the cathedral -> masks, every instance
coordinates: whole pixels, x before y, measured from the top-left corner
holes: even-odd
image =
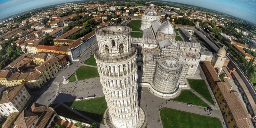
[[[141,17],[141,30],[150,28],[151,23],[155,20],[160,20],[158,13],[154,8],[154,4],[150,4],[148,9],[142,14]]]

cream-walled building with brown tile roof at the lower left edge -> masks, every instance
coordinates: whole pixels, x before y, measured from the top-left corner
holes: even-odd
[[[8,87],[1,93],[0,113],[4,116],[9,116],[13,112],[21,112],[30,99],[30,94],[24,84]]]

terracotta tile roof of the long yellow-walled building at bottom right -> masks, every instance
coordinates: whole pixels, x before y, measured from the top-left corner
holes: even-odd
[[[227,88],[225,82],[218,82],[218,87],[228,104],[228,108],[230,109],[238,128],[250,128],[247,122],[247,114],[242,106],[241,101],[238,99],[234,92],[230,92]]]

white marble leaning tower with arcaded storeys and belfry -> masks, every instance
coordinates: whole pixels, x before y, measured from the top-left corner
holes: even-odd
[[[138,106],[135,47],[127,26],[104,26],[96,30],[99,50],[94,57],[108,104],[106,127],[141,128],[145,114]]]

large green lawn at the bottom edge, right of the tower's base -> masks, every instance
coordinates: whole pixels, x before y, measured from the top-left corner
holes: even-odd
[[[170,108],[160,111],[163,128],[222,128],[218,118],[203,116]]]

